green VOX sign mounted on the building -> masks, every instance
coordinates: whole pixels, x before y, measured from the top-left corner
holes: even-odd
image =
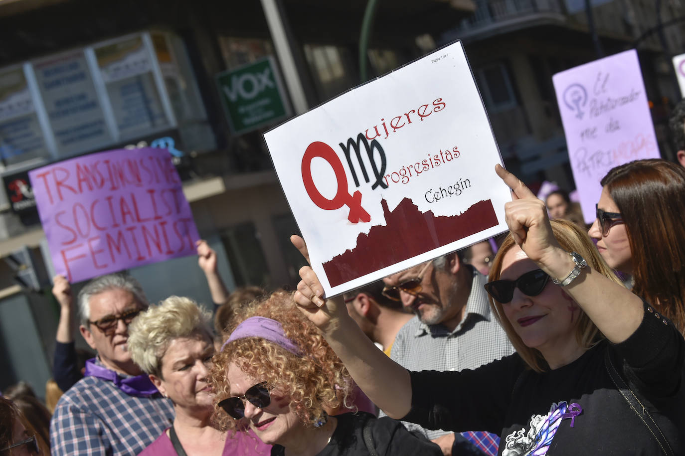
[[[283,84],[271,57],[219,73],[216,82],[234,134],[290,117]]]

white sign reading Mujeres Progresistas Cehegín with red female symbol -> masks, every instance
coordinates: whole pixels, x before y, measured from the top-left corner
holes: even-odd
[[[461,42],[264,139],[327,296],[506,231],[511,196]]]

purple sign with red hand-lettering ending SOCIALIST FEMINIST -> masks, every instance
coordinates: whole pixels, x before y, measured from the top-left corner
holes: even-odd
[[[164,149],[93,153],[29,177],[55,272],[70,282],[195,254],[197,228]]]

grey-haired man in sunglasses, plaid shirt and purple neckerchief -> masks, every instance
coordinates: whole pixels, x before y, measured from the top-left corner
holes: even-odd
[[[98,277],[79,293],[79,330],[97,357],[55,408],[53,456],[137,455],[173,421],[171,401],[127,350],[128,325],[146,308],[140,283],[127,275]]]

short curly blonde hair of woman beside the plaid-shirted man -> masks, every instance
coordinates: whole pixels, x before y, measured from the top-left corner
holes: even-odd
[[[126,343],[143,372],[162,378],[162,357],[171,341],[196,336],[212,343],[212,314],[190,298],[169,296],[134,318]]]

